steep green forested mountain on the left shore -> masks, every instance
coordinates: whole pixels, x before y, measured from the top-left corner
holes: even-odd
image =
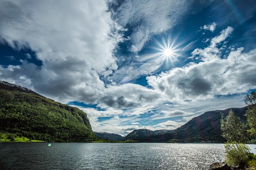
[[[0,81],[0,132],[43,141],[97,140],[83,111]]]

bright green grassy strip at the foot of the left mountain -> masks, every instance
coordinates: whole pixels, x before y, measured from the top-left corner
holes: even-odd
[[[43,142],[43,141],[31,140],[28,137],[20,137],[13,133],[0,133],[0,142]]]

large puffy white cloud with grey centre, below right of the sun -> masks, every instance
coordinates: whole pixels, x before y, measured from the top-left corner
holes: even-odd
[[[242,53],[243,48],[231,51],[221,58],[217,48],[233,31],[231,27],[212,38],[205,49],[196,49],[199,63],[189,63],[181,68],[147,77],[148,84],[155,90],[168,95],[172,102],[204,100],[216,95],[233,95],[256,88],[256,50]]]

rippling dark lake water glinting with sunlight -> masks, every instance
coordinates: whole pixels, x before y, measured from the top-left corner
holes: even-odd
[[[0,143],[0,170],[205,170],[223,152],[223,144]]]

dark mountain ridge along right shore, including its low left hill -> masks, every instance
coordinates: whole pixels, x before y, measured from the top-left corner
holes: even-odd
[[[175,130],[154,134],[151,130],[139,129],[133,130],[125,139],[138,140],[141,142],[201,142],[214,141],[223,143],[225,139],[221,136],[220,119],[221,114],[227,116],[232,109],[237,117],[246,121],[244,108],[228,108],[226,110],[208,111],[194,117],[186,124]]]

